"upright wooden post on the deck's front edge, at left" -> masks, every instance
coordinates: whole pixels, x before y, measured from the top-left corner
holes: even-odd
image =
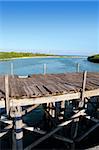
[[[6,114],[9,115],[10,109],[10,101],[9,101],[9,82],[8,82],[8,75],[5,75],[5,105],[6,105]]]

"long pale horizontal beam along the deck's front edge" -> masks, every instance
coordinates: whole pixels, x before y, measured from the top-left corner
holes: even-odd
[[[84,92],[84,97],[92,97],[92,96],[99,96],[99,89]],[[57,96],[38,97],[38,98],[22,98],[22,99],[10,98],[10,106],[27,106],[27,105],[34,105],[34,104],[50,103],[50,102],[69,101],[69,100],[80,99],[80,97],[81,97],[81,93],[77,92],[77,93],[69,93],[69,94],[57,95]],[[0,108],[5,108],[4,100],[0,100]]]

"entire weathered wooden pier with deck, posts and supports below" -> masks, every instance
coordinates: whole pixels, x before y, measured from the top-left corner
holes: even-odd
[[[92,99],[95,99],[96,104],[95,115],[87,113]],[[39,105],[42,105],[45,111],[45,120],[51,124],[49,131],[29,127],[22,121],[22,116]],[[11,130],[12,149],[30,150],[51,136],[69,143],[71,149],[75,149],[75,143],[79,143],[99,127],[99,73],[85,71],[32,76],[2,75],[0,109],[4,108],[6,113],[1,113],[0,122],[8,125],[0,131],[0,139]],[[78,128],[82,117],[94,122],[94,125],[79,135]],[[71,124],[71,138],[59,135],[58,131],[69,124]],[[23,129],[36,132],[42,137],[23,147]]]

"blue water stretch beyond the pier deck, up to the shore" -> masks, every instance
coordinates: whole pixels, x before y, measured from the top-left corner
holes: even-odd
[[[0,74],[11,74],[11,63],[16,75],[42,74],[44,64],[47,65],[47,73],[75,72],[77,63],[80,71],[99,72],[99,64],[87,61],[87,57],[81,58],[27,58],[0,61]]]

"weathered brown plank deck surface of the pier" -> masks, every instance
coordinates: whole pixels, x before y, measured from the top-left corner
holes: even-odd
[[[4,76],[0,76],[0,99],[5,98]],[[35,98],[80,92],[83,73],[32,75],[28,78],[9,76],[11,98]],[[85,90],[99,89],[99,73],[87,73]]]

